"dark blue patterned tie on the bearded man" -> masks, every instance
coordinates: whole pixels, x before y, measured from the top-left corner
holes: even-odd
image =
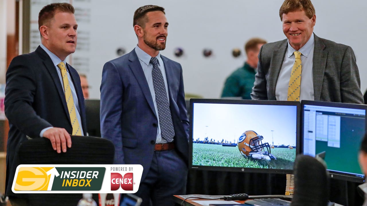
[[[175,136],[173,128],[172,115],[170,105],[168,104],[166,87],[164,85],[163,75],[158,67],[158,59],[152,57],[150,62],[153,65],[152,76],[154,93],[156,94],[156,102],[158,108],[159,124],[162,137],[168,142],[172,141]]]

